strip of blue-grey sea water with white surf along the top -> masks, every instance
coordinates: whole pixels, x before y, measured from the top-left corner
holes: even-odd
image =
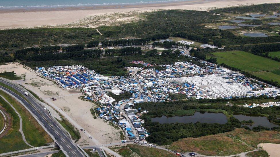
[[[94,5],[125,5],[141,3],[161,3],[190,0],[0,0],[0,8],[29,7],[75,7]]]

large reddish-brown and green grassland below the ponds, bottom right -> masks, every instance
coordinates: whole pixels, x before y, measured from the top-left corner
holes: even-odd
[[[203,155],[228,156],[254,150],[259,143],[280,143],[277,131],[252,132],[235,129],[232,132],[199,138],[183,138],[173,142],[169,149],[178,152],[198,152]]]

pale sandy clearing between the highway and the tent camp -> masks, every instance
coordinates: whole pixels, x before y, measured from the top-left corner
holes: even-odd
[[[24,75],[25,80],[16,80],[21,84],[40,96],[46,103],[57,109],[65,118],[67,118],[77,129],[83,128],[85,132],[81,132],[79,144],[106,144],[120,142],[119,132],[108,123],[104,123],[102,119],[94,119],[90,112],[90,108],[94,108],[93,103],[78,99],[82,94],[79,91],[62,90],[53,82],[41,78],[35,71],[25,68],[19,63],[11,63],[0,66],[0,72],[15,72],[16,75]],[[32,86],[32,82],[40,82],[44,86]],[[50,98],[55,97],[57,101]],[[67,109],[64,112],[63,109]],[[68,118],[69,116],[69,118]],[[81,128],[79,128],[81,126]],[[89,135],[90,134],[90,135]],[[88,136],[92,136],[94,140],[90,140]]]

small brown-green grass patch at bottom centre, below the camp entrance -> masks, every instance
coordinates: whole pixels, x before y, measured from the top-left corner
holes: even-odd
[[[141,156],[141,157],[171,157],[176,156],[175,154],[168,152],[166,150],[157,149],[153,147],[146,147],[146,146],[139,146],[136,144],[128,144],[127,146],[121,147],[112,147],[112,150],[118,152],[123,157],[134,157],[134,156]]]

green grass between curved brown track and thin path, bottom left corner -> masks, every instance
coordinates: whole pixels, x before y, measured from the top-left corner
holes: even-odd
[[[0,153],[30,148],[22,140],[22,134],[18,131],[20,129],[20,118],[17,116],[13,108],[11,108],[11,106],[1,97],[0,105],[3,106],[3,108],[5,108],[12,117],[11,129],[3,138],[0,139]]]

